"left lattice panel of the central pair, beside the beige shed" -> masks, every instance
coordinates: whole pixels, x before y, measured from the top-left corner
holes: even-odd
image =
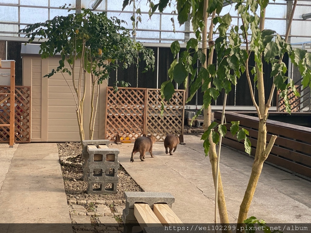
[[[106,139],[134,141],[143,135],[145,89],[107,88]]]

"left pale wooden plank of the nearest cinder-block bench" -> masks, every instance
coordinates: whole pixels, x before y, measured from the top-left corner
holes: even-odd
[[[134,203],[134,216],[142,228],[163,226],[147,203]]]

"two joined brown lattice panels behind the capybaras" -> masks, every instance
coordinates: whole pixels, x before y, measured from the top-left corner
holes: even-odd
[[[168,134],[183,135],[184,90],[176,90],[169,103],[164,102],[161,117],[159,89],[119,88],[114,93],[107,88],[105,139],[135,141],[143,134],[156,136],[163,141]]]

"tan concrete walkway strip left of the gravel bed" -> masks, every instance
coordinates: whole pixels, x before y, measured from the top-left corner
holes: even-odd
[[[63,223],[64,232],[72,231],[55,143],[18,145],[1,187],[0,203],[0,223]],[[34,232],[35,225],[23,226]]]

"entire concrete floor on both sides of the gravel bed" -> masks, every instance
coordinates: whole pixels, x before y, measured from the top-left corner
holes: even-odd
[[[215,194],[209,159],[200,135],[185,135],[184,140],[186,145],[178,145],[173,156],[165,154],[163,143],[154,144],[155,158],[146,154],[145,162],[139,153],[130,162],[133,144],[111,147],[120,149],[121,165],[143,190],[174,195],[173,210],[184,223],[212,223]],[[234,223],[253,159],[228,148],[221,151],[221,177]],[[0,155],[0,223],[63,223],[63,230],[70,231],[56,144],[19,144],[17,149],[2,144]],[[311,222],[310,190],[311,182],[265,164],[248,216],[270,223]]]

